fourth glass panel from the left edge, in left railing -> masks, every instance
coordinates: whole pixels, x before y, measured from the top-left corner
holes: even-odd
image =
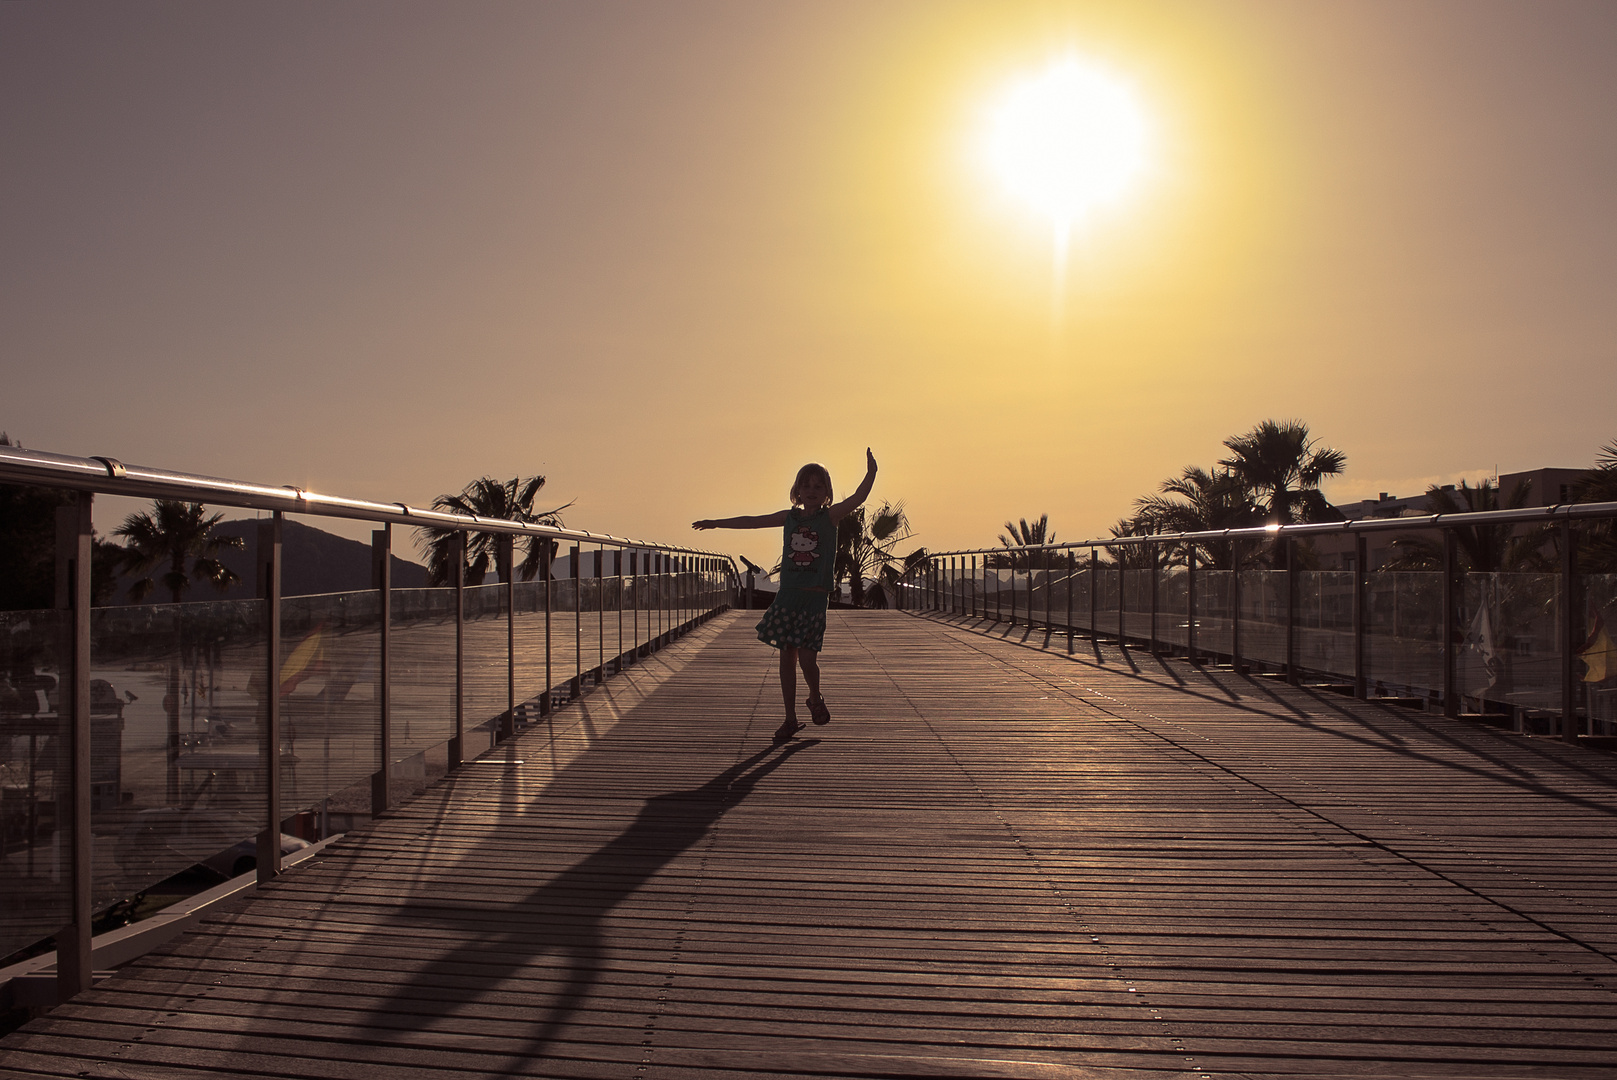
[[[454,590],[396,589],[388,692],[393,760],[454,736]]]

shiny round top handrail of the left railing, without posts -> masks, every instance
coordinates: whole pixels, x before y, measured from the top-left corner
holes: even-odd
[[[196,472],[175,472],[149,466],[129,466],[116,458],[71,458],[21,446],[0,446],[0,482],[34,483],[40,487],[73,488],[100,495],[129,495],[136,498],[171,498],[215,506],[241,506],[244,509],[280,511],[283,514],[315,514],[323,517],[348,517],[354,521],[391,522],[396,525],[437,525],[440,529],[466,529],[469,532],[498,532],[513,535],[545,537],[550,540],[576,540],[603,543],[614,548],[657,548],[679,555],[721,558],[731,564],[739,579],[736,561],[718,551],[689,548],[671,543],[629,540],[585,529],[561,529],[505,517],[479,517],[475,514],[450,514],[440,509],[411,506],[409,503],[372,503],[369,500],[323,495],[294,485],[270,487],[246,480],[226,480]]]

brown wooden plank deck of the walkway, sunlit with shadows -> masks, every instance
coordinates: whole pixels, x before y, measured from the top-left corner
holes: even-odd
[[[1607,755],[724,614],[0,1044],[63,1077],[1612,1077]],[[807,719],[807,716],[804,716]]]

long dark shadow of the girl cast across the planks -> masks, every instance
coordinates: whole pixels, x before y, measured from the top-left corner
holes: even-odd
[[[535,957],[550,954],[558,957],[558,964],[535,968],[529,975],[548,977],[547,981],[553,985],[548,991],[550,1006],[537,1020],[538,1030],[490,1036],[522,1043],[501,1056],[527,1059],[542,1054],[605,970],[608,956],[602,920],[707,836],[726,810],[752,794],[758,781],[815,742],[792,742],[778,755],[773,749],[760,750],[700,787],[647,799],[623,833],[516,902],[480,904],[472,899],[462,905],[404,901],[398,907],[401,918],[417,926],[430,925],[440,934],[462,934],[461,941],[396,985],[385,1001],[359,1020],[361,1027],[412,1031],[438,1027],[430,1019],[459,1015],[487,1030],[490,1020],[508,1010],[496,1001],[488,1001],[492,991],[529,967]],[[475,884],[467,883],[467,888]],[[498,923],[500,928],[488,930],[490,923]],[[660,980],[661,977],[657,981]],[[482,1006],[480,1012],[477,1006]]]

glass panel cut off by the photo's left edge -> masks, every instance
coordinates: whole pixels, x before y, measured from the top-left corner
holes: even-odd
[[[68,624],[66,611],[0,611],[0,956],[71,918],[58,862],[66,855],[58,829],[66,825],[68,724],[57,710]]]

